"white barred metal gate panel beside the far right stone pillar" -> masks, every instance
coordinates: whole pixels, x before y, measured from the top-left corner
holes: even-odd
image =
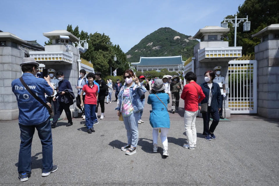
[[[257,61],[229,61],[228,79],[230,113],[257,113]]]

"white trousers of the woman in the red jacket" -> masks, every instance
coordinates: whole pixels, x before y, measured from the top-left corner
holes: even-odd
[[[184,112],[184,124],[185,131],[187,133],[188,142],[190,147],[194,147],[194,144],[197,144],[197,132],[196,132],[196,116],[197,111],[188,111]]]

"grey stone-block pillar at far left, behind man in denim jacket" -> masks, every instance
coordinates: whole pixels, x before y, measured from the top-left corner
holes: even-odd
[[[18,107],[11,83],[22,76],[19,64],[24,51],[19,44],[27,42],[9,32],[0,32],[0,120],[18,119]]]

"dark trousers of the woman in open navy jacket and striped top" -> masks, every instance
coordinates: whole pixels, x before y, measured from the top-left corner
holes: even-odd
[[[212,115],[212,124],[209,128],[210,114]],[[203,115],[203,135],[209,135],[209,132],[214,133],[215,128],[217,127],[220,119],[219,111],[210,112],[210,106],[208,107],[208,112],[202,113]]]

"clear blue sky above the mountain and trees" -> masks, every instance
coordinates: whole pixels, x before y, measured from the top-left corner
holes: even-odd
[[[119,44],[125,53],[161,27],[194,36],[205,26],[220,26],[225,16],[237,13],[238,6],[244,3],[244,0],[0,1],[3,32],[44,45],[48,38],[42,33],[66,30],[68,24],[73,29],[78,25],[79,31],[109,35],[111,42]]]

